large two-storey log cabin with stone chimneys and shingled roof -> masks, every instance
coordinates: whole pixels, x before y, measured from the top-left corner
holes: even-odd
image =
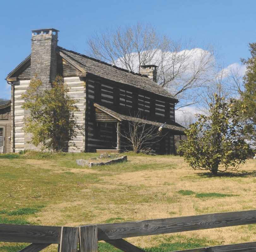
[[[44,88],[51,87],[58,74],[68,96],[76,101],[75,116],[84,129],[68,143],[68,152],[126,150],[122,131],[128,123],[140,122],[156,128],[165,123],[163,137],[153,148],[160,154],[174,153],[174,135],[184,135],[184,128],[175,122],[178,100],[156,83],[157,66],[143,65],[140,73],[129,72],[58,46],[58,32],[33,30],[31,54],[6,77],[12,87],[12,151],[39,150],[28,143],[31,134],[23,129],[29,114],[22,109],[21,95],[35,74]]]

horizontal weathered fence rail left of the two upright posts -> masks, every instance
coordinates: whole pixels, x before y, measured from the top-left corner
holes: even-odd
[[[60,243],[61,226],[0,224],[1,242]]]

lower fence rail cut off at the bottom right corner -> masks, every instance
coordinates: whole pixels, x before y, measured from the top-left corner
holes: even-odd
[[[207,248],[177,250],[173,252],[255,252],[256,242],[220,245]]]

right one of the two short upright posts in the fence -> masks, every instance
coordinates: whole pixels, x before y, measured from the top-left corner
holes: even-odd
[[[80,252],[98,251],[98,227],[86,225],[79,227]]]

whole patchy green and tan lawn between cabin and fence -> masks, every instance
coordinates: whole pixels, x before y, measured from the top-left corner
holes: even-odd
[[[0,155],[0,223],[79,226],[256,209],[256,160],[212,177],[192,170],[182,157],[127,155],[128,162],[92,168],[75,159],[95,153]],[[164,252],[256,241],[256,225],[127,240]],[[0,251],[22,246],[0,243]],[[99,243],[99,251],[116,249]]]

